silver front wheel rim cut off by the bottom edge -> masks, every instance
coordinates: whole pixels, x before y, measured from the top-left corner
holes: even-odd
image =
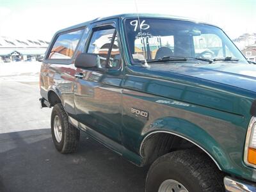
[[[179,181],[168,179],[161,183],[158,192],[188,192]]]

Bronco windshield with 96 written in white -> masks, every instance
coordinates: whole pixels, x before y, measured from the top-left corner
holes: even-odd
[[[248,63],[221,29],[207,24],[140,17],[125,20],[125,33],[133,64],[180,57]]]

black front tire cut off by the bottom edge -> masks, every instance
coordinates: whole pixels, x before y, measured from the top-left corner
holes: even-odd
[[[178,150],[156,159],[148,170],[145,191],[157,192],[168,179],[178,181],[189,192],[225,191],[223,173],[197,150]]]

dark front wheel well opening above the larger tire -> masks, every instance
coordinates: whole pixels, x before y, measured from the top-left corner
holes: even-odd
[[[141,143],[140,154],[144,159],[143,164],[147,165],[152,164],[158,157],[164,154],[182,149],[204,152],[211,159],[212,163],[216,164],[221,170],[213,157],[205,150],[192,143],[192,141],[168,132],[156,132],[147,136]]]

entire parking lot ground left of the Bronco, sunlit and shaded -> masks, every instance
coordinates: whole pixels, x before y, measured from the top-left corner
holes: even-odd
[[[143,191],[138,168],[81,134],[79,150],[60,154],[51,138],[51,109],[40,109],[36,82],[0,78],[0,192]]]

